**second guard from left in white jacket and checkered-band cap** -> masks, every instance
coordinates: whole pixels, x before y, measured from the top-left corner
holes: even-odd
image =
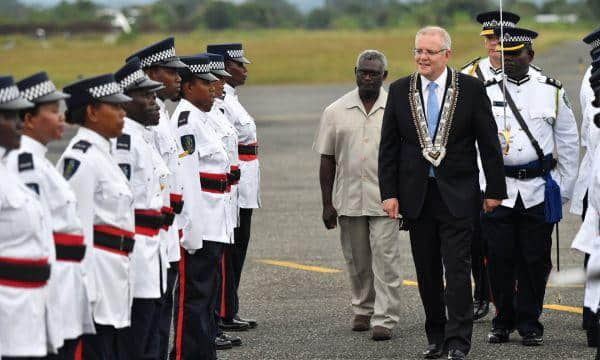
[[[21,147],[8,157],[8,166],[39,197],[53,232],[56,262],[52,264],[49,300],[64,345],[61,359],[75,359],[83,334],[94,334],[92,308],[81,266],[86,246],[77,199],[54,164],[46,159],[49,142],[62,138],[65,119],[60,102],[69,97],[54,86],[45,72],[17,83],[21,95],[35,107],[21,111]],[[62,341],[62,340],[61,340]]]

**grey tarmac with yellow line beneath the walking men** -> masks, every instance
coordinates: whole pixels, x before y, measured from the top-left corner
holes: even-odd
[[[534,63],[567,88],[579,121],[580,62],[588,62],[583,45],[566,44],[540,55]],[[393,59],[391,59],[393,61]],[[353,67],[348,64],[349,74]],[[252,68],[250,67],[250,76]],[[400,74],[390,74],[396,79]],[[220,359],[420,359],[427,346],[424,312],[415,286],[408,234],[400,232],[405,285],[401,320],[390,341],[374,342],[370,332],[352,332],[350,290],[338,230],[321,221],[319,156],[312,142],[326,105],[353,88],[345,85],[261,86],[240,89],[240,99],[254,115],[259,132],[263,207],[254,212],[252,238],[240,289],[243,317],[256,318],[256,329],[236,333],[244,344],[219,351]],[[72,134],[72,131],[70,131]],[[52,147],[54,159],[64,142]],[[563,210],[560,224],[561,269],[582,265],[569,249],[580,226]],[[556,240],[554,240],[556,241]],[[556,244],[556,243],[555,243]],[[556,251],[552,252],[556,269]],[[581,286],[550,286],[545,304],[545,344],[525,348],[513,333],[511,342],[489,345],[485,337],[492,315],[475,323],[470,359],[592,359],[581,330]],[[493,310],[492,310],[493,312]]]

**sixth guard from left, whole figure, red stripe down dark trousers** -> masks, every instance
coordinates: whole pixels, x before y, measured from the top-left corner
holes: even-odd
[[[217,271],[223,244],[231,243],[227,174],[231,164],[220,137],[208,125],[214,101],[207,56],[182,57],[182,99],[171,121],[184,152],[183,229],[179,286],[175,289],[175,346],[171,359],[216,359]]]

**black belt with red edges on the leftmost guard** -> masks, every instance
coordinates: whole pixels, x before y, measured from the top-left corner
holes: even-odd
[[[0,258],[0,285],[34,288],[50,278],[48,259]]]

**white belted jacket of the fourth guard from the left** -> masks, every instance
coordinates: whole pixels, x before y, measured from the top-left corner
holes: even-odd
[[[165,199],[161,178],[169,170],[154,147],[154,133],[125,118],[123,135],[111,139],[114,158],[129,179],[135,208],[135,247],[131,255],[134,274],[133,296],[158,299],[166,291],[166,254],[161,247]],[[159,224],[160,223],[160,224]],[[163,241],[167,239],[163,237]],[[161,284],[163,288],[161,288]]]

